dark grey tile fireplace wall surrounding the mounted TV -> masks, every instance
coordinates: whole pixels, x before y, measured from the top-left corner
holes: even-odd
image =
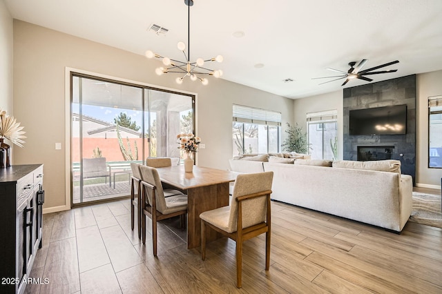
[[[407,105],[406,135],[349,135],[349,110]],[[416,75],[344,89],[344,159],[358,160],[358,147],[394,147],[392,159],[401,161],[401,170],[416,175]]]

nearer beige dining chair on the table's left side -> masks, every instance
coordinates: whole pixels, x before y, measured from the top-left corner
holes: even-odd
[[[187,213],[187,195],[178,190],[163,190],[156,168],[140,166],[142,175],[142,242],[146,244],[146,216],[152,219],[153,256],[157,256],[157,222],[180,215],[184,227]],[[164,197],[164,193],[175,193]]]

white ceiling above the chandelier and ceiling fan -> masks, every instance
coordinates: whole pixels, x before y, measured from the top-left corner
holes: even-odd
[[[139,55],[150,49],[183,59],[176,44],[187,44],[184,0],[4,1],[15,19]],[[318,85],[327,79],[311,78],[334,76],[325,68],[346,71],[349,61],[361,59],[368,59],[365,69],[400,61],[383,68],[397,72],[369,76],[374,81],[442,70],[442,0],[194,2],[191,61],[223,55],[210,66],[222,69],[223,79],[277,95],[296,99],[343,88],[343,80]],[[152,23],[169,32],[148,32]],[[238,31],[244,37],[234,37]],[[164,79],[175,78],[169,75]],[[285,83],[288,78],[294,81]],[[345,87],[361,84],[367,82]]]

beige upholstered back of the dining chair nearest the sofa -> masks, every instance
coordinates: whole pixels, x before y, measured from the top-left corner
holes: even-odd
[[[272,182],[273,172],[240,174],[236,177],[230,204],[229,229],[231,231],[236,231],[238,226],[238,202],[236,198],[271,190]],[[242,228],[265,222],[266,216],[267,198],[265,195],[242,202]]]

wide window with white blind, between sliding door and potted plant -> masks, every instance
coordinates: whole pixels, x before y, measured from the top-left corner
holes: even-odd
[[[233,104],[233,156],[280,152],[281,113]]]

